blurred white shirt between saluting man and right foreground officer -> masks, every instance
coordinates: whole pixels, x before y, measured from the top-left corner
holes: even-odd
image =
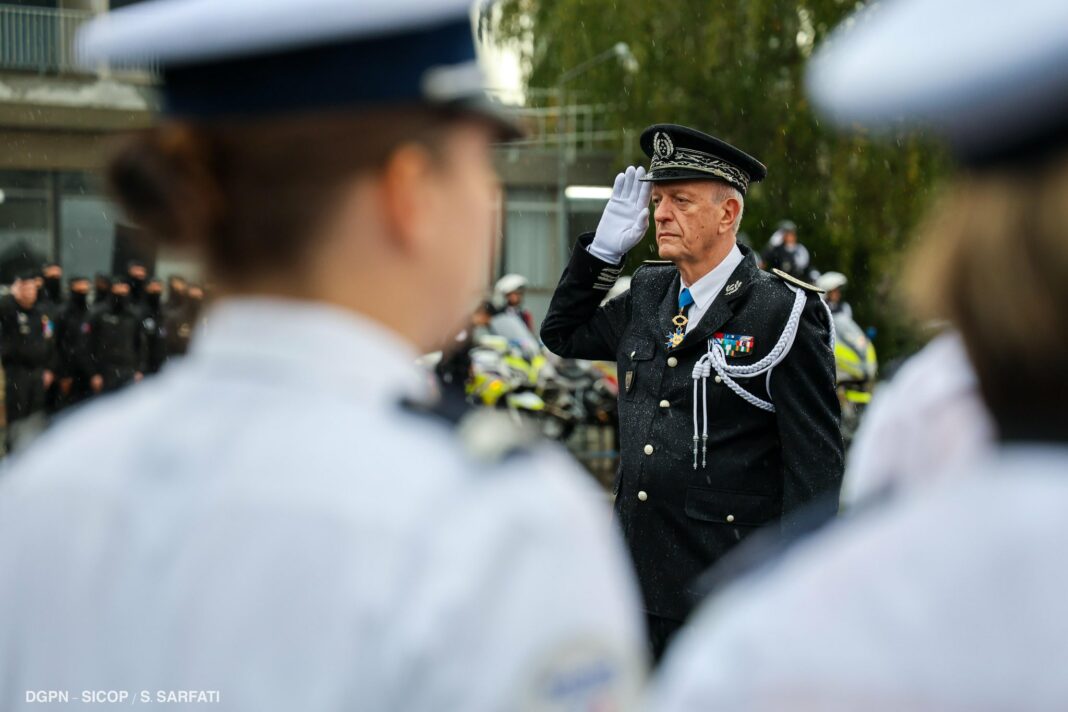
[[[849,450],[842,503],[967,474],[990,457],[993,443],[964,345],[956,333],[943,334],[876,393]]]

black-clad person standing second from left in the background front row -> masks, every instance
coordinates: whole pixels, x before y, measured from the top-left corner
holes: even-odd
[[[70,279],[70,298],[56,323],[56,350],[62,405],[72,406],[92,393],[93,366],[92,314],[89,308],[90,282]]]

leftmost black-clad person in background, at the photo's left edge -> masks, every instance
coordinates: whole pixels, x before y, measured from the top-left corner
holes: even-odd
[[[27,444],[44,427],[32,417],[45,408],[52,371],[53,325],[42,308],[35,270],[15,278],[11,294],[0,299],[0,350],[3,353],[7,452]]]

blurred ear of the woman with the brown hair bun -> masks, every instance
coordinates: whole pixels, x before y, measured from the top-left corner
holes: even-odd
[[[394,151],[382,169],[379,195],[387,236],[406,253],[435,239],[434,216],[442,213],[443,200],[437,172],[434,156],[414,143]]]

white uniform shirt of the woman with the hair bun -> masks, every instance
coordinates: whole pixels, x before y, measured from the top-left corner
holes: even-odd
[[[42,707],[27,691],[257,712],[632,699],[626,553],[566,455],[470,459],[399,406],[426,387],[407,344],[348,313],[242,300],[209,323],[0,476],[0,709]]]

